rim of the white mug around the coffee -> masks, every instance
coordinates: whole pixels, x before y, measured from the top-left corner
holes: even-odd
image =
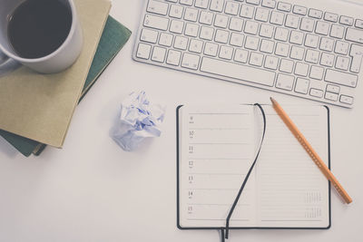
[[[70,7],[71,7],[71,12],[72,12],[72,25],[71,25],[71,29],[67,35],[67,37],[64,40],[64,43],[61,44],[61,46],[58,47],[58,49],[56,49],[53,53],[49,53],[48,55],[45,55],[43,57],[40,58],[34,58],[34,59],[29,59],[29,58],[23,58],[20,57],[18,55],[15,55],[13,53],[10,53],[9,51],[7,51],[4,46],[0,43],[0,51],[5,53],[5,55],[9,58],[14,59],[15,61],[19,62],[19,63],[41,63],[44,62],[48,59],[51,59],[52,57],[54,57],[55,55],[57,55],[58,53],[62,52],[63,49],[65,48],[65,46],[67,44],[69,44],[71,42],[72,36],[75,33],[76,27],[77,27],[77,13],[75,10],[75,5],[74,5],[74,0],[67,0]]]

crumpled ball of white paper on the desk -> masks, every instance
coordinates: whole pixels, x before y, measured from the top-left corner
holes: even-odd
[[[165,108],[149,102],[145,92],[132,92],[121,104],[111,137],[123,150],[135,150],[145,138],[160,137],[164,114]]]

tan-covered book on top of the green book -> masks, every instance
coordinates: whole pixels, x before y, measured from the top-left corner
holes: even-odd
[[[0,130],[61,148],[111,8],[109,0],[74,0],[83,51],[63,73],[22,67],[0,79]]]

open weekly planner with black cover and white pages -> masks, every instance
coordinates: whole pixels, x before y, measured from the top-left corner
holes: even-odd
[[[329,228],[329,181],[270,105],[260,157],[231,216],[231,228]],[[329,109],[284,106],[329,166]],[[253,105],[185,105],[177,110],[177,202],[181,229],[226,226],[260,146]]]

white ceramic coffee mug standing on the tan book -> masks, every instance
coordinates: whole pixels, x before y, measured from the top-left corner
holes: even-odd
[[[0,0],[0,77],[24,64],[38,73],[59,73],[70,67],[82,51],[83,34],[74,0],[58,0],[68,5],[72,12],[71,30],[64,43],[53,53],[42,58],[26,59],[13,50],[7,33],[7,24],[17,6],[25,0]]]

